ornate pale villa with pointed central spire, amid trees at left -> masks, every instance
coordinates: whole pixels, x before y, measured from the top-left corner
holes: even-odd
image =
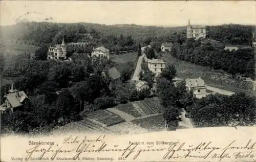
[[[47,60],[63,61],[67,59],[67,45],[62,37],[62,43],[48,48]]]

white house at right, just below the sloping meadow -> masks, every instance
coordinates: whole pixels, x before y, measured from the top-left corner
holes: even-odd
[[[187,78],[185,82],[187,90],[193,90],[193,93],[196,96],[196,98],[201,99],[206,96],[206,85],[203,79],[201,79],[200,77],[196,79]]]

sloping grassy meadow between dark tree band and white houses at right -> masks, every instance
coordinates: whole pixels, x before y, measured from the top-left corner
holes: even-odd
[[[162,59],[167,64],[173,64],[176,67],[178,78],[201,77],[207,85],[255,95],[255,92],[252,91],[252,82],[236,79],[222,70],[212,70],[210,67],[178,60],[170,54],[162,54]]]

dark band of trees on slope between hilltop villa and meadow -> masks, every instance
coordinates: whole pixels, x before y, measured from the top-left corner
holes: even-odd
[[[215,70],[222,69],[232,75],[254,77],[253,49],[229,51],[211,43],[201,44],[200,40],[188,39],[183,44],[175,43],[171,54],[180,60],[210,66]]]

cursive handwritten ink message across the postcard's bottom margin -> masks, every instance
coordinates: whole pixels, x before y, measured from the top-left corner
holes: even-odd
[[[140,157],[156,153],[159,160],[215,159],[223,161],[236,159],[256,161],[256,142],[250,139],[244,144],[231,140],[220,147],[212,141],[202,141],[196,144],[181,141],[127,141],[126,145],[119,145],[115,141],[106,141],[105,137],[105,135],[99,135],[97,138],[88,136],[79,138],[69,135],[63,138],[61,143],[29,141],[29,149],[25,150],[24,158],[11,158],[15,161],[120,161],[138,160]]]

